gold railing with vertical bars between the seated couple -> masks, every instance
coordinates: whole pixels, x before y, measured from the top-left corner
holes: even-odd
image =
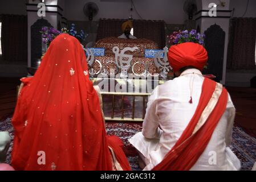
[[[111,103],[111,117],[105,117],[105,121],[112,121],[112,122],[143,122],[145,117],[145,109],[146,109],[146,100],[145,98],[150,96],[151,93],[127,93],[127,92],[101,92],[101,96],[104,101],[105,96],[110,96],[112,98]],[[119,96],[121,97],[121,117],[115,117],[115,97]],[[124,97],[129,96],[132,97],[132,117],[124,117]],[[135,118],[135,97],[143,97],[143,107],[141,108],[142,117],[141,118]],[[104,108],[104,102],[103,102],[103,108]],[[103,109],[104,111],[104,109]]]

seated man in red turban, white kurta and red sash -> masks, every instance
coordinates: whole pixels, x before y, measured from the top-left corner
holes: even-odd
[[[129,142],[144,170],[238,170],[228,148],[235,108],[221,84],[202,76],[208,60],[196,43],[172,46],[168,60],[177,76],[149,97],[143,130]]]

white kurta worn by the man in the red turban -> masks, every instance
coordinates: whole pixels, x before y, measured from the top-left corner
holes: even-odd
[[[199,75],[188,74],[193,72]],[[187,69],[182,76],[167,81],[153,90],[147,105],[143,131],[129,139],[129,142],[144,156],[147,165],[144,170],[151,170],[159,164],[181,137],[196,111],[203,81],[204,77],[200,71]],[[193,88],[192,104],[189,103],[190,88]],[[234,116],[235,109],[229,96],[225,113],[214,130],[208,146],[191,170],[240,168],[237,156],[227,147],[231,144]]]

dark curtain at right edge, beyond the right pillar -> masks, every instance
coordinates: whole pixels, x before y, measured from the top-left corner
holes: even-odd
[[[228,69],[255,69],[256,18],[231,19]]]

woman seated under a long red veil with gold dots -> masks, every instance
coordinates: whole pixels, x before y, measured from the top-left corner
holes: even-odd
[[[56,37],[35,76],[22,82],[12,119],[15,169],[131,169],[120,139],[105,133],[99,98],[77,39]]]

